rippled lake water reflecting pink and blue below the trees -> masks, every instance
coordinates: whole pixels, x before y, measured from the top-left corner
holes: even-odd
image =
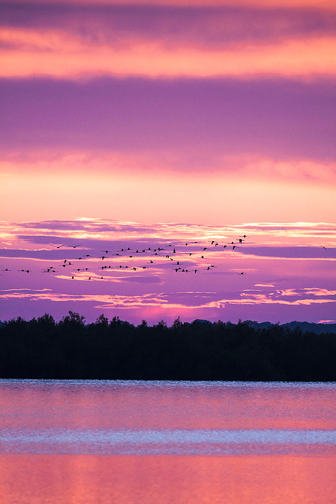
[[[0,502],[335,504],[335,384],[0,380]]]

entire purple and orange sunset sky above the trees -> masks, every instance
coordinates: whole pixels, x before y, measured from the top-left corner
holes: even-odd
[[[4,0],[0,320],[335,322],[335,20]]]

